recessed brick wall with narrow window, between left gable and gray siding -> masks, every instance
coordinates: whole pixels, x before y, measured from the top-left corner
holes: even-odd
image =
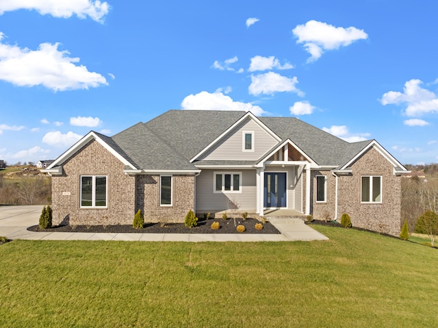
[[[144,222],[183,223],[194,210],[194,175],[172,175],[172,206],[159,205],[159,175],[138,175],[136,210],[142,210]]]

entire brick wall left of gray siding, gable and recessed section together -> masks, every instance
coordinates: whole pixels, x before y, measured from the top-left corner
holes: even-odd
[[[52,177],[53,225],[131,225],[138,209],[145,222],[183,223],[194,209],[194,175],[173,175],[172,206],[160,206],[159,175],[126,175],[125,165],[95,140],[62,167]],[[107,176],[107,208],[80,207],[81,175]]]

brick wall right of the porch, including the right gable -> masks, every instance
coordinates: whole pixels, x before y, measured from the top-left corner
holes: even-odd
[[[364,153],[351,166],[351,175],[338,177],[337,219],[343,213],[350,215],[352,225],[398,236],[400,234],[401,177],[394,175],[394,168],[376,149]],[[327,202],[316,203],[315,175],[327,176]],[[382,177],[382,203],[361,203],[361,177],[378,175]],[[329,213],[335,216],[335,177],[329,171],[312,172],[311,201],[313,217],[323,219]]]

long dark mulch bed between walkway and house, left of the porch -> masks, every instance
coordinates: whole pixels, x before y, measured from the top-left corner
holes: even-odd
[[[220,224],[220,229],[211,229],[211,223],[217,221]],[[247,218],[246,220],[236,220],[237,225],[244,225],[245,231],[242,234],[280,234],[269,222],[263,223],[263,229],[255,229],[256,223],[261,223],[254,218]],[[73,229],[74,228],[74,229]],[[239,234],[234,226],[234,220],[229,218],[227,220],[198,220],[198,225],[192,229],[185,227],[184,223],[168,223],[164,227],[160,223],[145,223],[143,229],[134,229],[132,225],[71,225],[54,226],[50,229],[40,229],[38,225],[28,227],[29,231],[45,231],[45,232],[90,232],[90,233],[123,233],[123,234]]]

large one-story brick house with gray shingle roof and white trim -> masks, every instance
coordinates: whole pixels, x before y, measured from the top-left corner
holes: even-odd
[[[90,131],[43,172],[53,224],[183,222],[188,210],[287,209],[400,233],[400,175],[376,142],[349,143],[287,117],[170,110],[115,136]]]

